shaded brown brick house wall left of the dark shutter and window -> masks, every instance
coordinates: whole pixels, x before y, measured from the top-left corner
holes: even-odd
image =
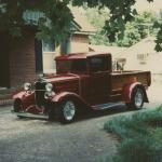
[[[11,40],[10,85],[17,86],[36,79],[35,31]]]

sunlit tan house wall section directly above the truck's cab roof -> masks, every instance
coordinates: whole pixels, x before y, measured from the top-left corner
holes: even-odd
[[[89,35],[73,33],[70,45],[71,53],[89,52]]]

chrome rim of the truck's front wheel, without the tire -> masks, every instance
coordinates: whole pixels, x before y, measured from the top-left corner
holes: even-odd
[[[66,120],[70,121],[73,119],[76,114],[76,107],[75,107],[73,102],[71,100],[66,102],[63,110],[64,110],[64,117]]]

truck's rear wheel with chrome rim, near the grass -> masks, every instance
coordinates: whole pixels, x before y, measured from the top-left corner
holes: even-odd
[[[133,91],[131,103],[126,103],[126,106],[131,109],[141,109],[144,106],[144,90],[136,87]]]

